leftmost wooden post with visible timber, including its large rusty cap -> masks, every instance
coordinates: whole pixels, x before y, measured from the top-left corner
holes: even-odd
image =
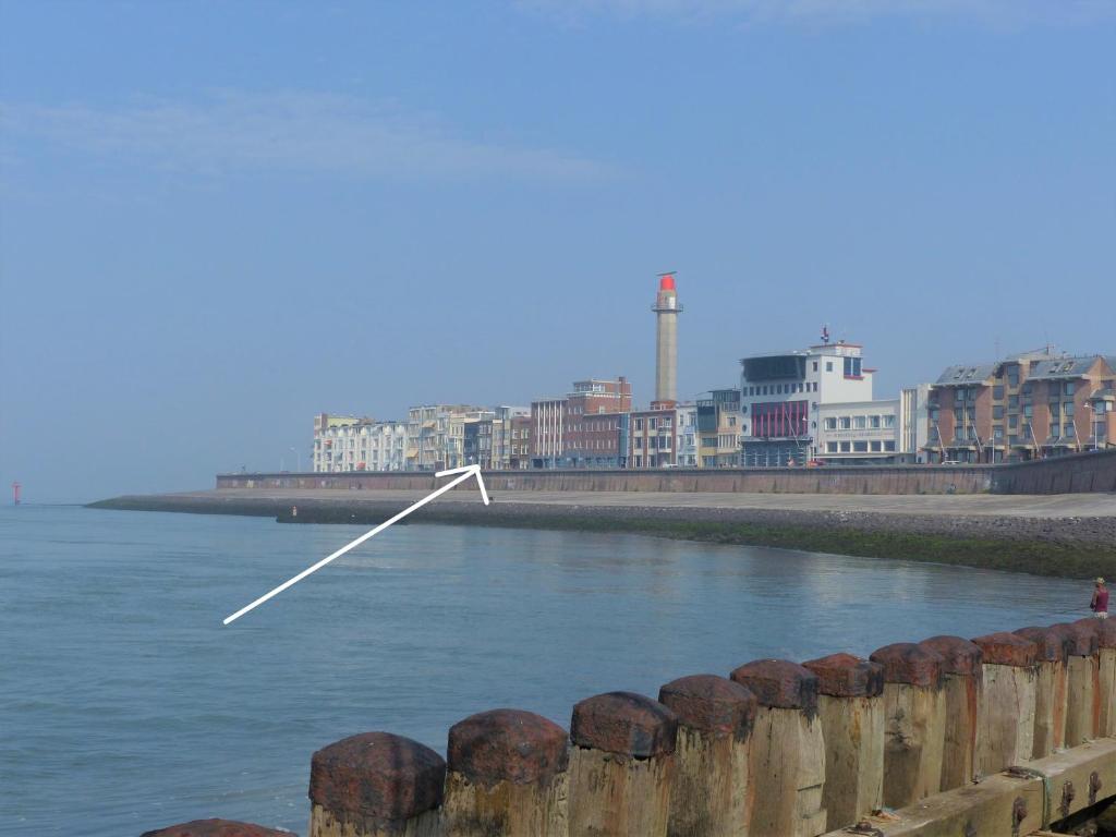
[[[310,837],[439,837],[445,762],[402,735],[365,732],[310,759]]]

